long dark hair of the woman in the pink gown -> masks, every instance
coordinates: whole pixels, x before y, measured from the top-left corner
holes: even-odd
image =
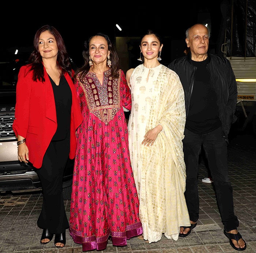
[[[89,65],[89,44],[90,41],[93,37],[95,36],[102,36],[106,39],[107,43],[108,43],[108,50],[110,51],[110,61],[111,61],[111,75],[113,78],[118,78],[119,74],[118,74],[118,70],[120,69],[119,67],[119,58],[116,52],[116,48],[114,47],[114,45],[112,44],[110,38],[108,35],[103,34],[101,32],[91,36],[88,41],[84,42],[84,50],[83,50],[83,59],[84,59],[84,64],[82,67],[80,67],[79,69],[76,70],[75,73],[75,77],[77,76],[77,74],[79,72],[81,72],[82,74],[80,75],[80,81],[82,81],[84,79],[84,76],[89,72],[90,70],[90,65]]]

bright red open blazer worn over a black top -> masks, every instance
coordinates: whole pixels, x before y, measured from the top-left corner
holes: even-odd
[[[17,135],[26,138],[29,148],[29,161],[35,168],[41,168],[42,160],[57,129],[56,107],[52,84],[44,68],[45,82],[34,82],[33,71],[22,66],[16,87],[15,119],[12,128]],[[72,92],[70,125],[70,159],[75,157],[75,131],[82,123],[82,114],[72,79],[65,78]]]

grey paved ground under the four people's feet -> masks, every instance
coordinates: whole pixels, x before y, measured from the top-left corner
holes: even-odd
[[[233,186],[234,210],[240,226],[238,231],[247,243],[246,253],[256,252],[256,136],[239,135],[231,139],[228,148],[229,175]],[[186,238],[177,241],[164,236],[159,242],[148,244],[132,238],[125,247],[114,247],[109,241],[104,253],[151,252],[151,253],[199,253],[237,252],[231,248],[223,234],[223,225],[216,203],[214,184],[202,183],[207,168],[202,159],[199,169],[200,216],[197,226]],[[41,192],[0,194],[0,252],[82,252],[82,245],[75,244],[66,232],[67,244],[63,249],[54,246],[54,240],[41,245],[42,230],[37,227],[41,210]],[[67,215],[70,201],[65,200]],[[69,216],[68,216],[69,217]],[[94,250],[93,252],[97,252]]]

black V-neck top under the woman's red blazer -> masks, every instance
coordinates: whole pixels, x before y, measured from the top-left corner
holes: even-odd
[[[59,85],[56,85],[52,78],[50,78],[50,81],[52,83],[57,116],[57,130],[52,140],[64,140],[70,132],[72,93],[64,76],[60,78]]]

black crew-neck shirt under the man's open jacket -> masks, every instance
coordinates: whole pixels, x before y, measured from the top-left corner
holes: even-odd
[[[209,133],[221,126],[216,92],[206,68],[209,59],[191,62],[196,72],[185,127],[193,133]]]

